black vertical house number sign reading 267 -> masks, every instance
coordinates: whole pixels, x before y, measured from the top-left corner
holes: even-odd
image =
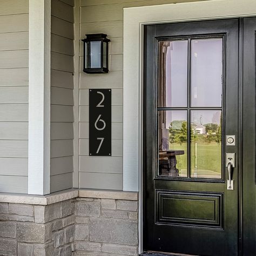
[[[111,156],[111,89],[89,89],[89,154]]]

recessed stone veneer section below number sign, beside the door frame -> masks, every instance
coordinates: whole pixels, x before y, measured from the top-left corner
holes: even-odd
[[[75,255],[138,255],[138,201],[77,198]]]

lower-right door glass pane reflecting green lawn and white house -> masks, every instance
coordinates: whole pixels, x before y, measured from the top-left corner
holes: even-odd
[[[221,111],[191,111],[191,177],[221,178]]]

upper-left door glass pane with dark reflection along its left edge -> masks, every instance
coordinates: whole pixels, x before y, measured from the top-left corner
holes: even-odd
[[[187,41],[160,41],[158,63],[158,106],[187,106]]]

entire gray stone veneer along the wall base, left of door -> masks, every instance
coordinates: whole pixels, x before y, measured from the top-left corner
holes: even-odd
[[[138,201],[107,194],[48,205],[0,203],[0,255],[138,255]]]

